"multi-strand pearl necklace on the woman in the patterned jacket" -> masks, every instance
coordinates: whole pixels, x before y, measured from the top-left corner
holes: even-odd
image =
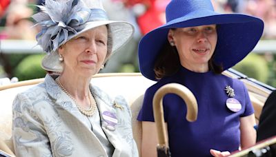
[[[97,104],[96,104],[95,98],[92,96],[90,91],[88,94],[88,98],[90,101],[90,107],[88,109],[85,109],[85,108],[81,107],[79,104],[77,104],[77,100],[63,87],[63,85],[59,81],[59,77],[57,77],[56,82],[57,82],[57,85],[59,85],[59,87],[61,88],[61,90],[63,90],[63,92],[65,92],[70,98],[72,98],[72,100],[77,105],[81,114],[84,114],[86,116],[93,116],[95,109],[97,107]]]

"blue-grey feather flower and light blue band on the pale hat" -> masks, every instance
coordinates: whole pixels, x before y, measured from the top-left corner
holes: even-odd
[[[108,21],[104,10],[90,9],[79,0],[45,1],[45,6],[38,7],[43,12],[32,16],[41,26],[41,32],[36,36],[37,44],[48,53],[66,43],[70,35],[83,30],[87,22]]]

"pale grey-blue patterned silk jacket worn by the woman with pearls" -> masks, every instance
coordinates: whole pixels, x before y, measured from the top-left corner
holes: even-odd
[[[101,128],[115,147],[115,156],[138,156],[132,136],[131,112],[121,96],[110,98],[90,85]],[[120,107],[115,107],[115,105]],[[55,79],[18,94],[13,103],[12,139],[17,156],[108,156],[72,99]],[[108,125],[112,125],[110,129]]]

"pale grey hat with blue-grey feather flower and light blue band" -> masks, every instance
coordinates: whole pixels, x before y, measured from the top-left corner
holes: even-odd
[[[37,45],[41,45],[44,56],[41,67],[51,72],[62,72],[57,49],[75,36],[108,25],[112,38],[112,50],[115,52],[124,45],[134,32],[133,26],[126,21],[110,21],[103,9],[101,0],[46,0],[38,6],[41,12],[32,18],[41,26],[37,34]]]

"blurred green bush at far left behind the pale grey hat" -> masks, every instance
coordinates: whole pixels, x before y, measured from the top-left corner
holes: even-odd
[[[41,67],[41,60],[44,55],[33,54],[24,58],[14,69],[14,76],[19,81],[43,78],[46,71]]]

